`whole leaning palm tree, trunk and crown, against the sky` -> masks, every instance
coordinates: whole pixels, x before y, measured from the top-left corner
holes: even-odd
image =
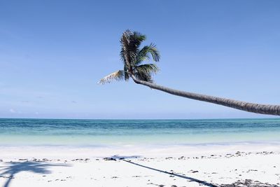
[[[123,79],[128,81],[129,78],[132,78],[137,84],[146,85],[149,88],[167,92],[172,95],[178,95],[203,102],[220,104],[242,111],[280,116],[280,105],[241,102],[234,99],[226,99],[211,95],[202,95],[193,92],[174,90],[172,88],[167,88],[165,86],[153,83],[152,75],[159,71],[158,66],[156,64],[142,64],[142,62],[150,60],[151,58],[155,62],[158,62],[160,60],[160,53],[153,43],[151,43],[149,46],[140,48],[141,42],[145,39],[146,36],[140,34],[139,32],[131,32],[130,30],[123,32],[123,36],[120,38],[120,57],[123,61],[124,68],[123,70],[118,70],[112,74],[109,74],[108,76],[105,76],[99,81],[99,83],[111,83],[113,80],[120,81]]]

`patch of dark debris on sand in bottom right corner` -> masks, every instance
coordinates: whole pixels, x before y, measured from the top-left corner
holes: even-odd
[[[236,181],[231,184],[222,184],[220,187],[280,187],[274,184],[269,183],[261,183],[260,181],[252,181],[250,179],[246,179],[245,181]]]

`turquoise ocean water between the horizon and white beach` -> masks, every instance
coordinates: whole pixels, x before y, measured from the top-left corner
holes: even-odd
[[[280,143],[280,118],[211,120],[0,119],[0,146]]]

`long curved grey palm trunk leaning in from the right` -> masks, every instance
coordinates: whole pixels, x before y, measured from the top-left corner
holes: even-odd
[[[248,111],[253,113],[270,114],[275,116],[280,116],[280,105],[270,105],[270,104],[255,104],[249,102],[241,102],[234,99],[226,99],[222,97],[214,97],[211,95],[202,95],[192,92],[184,92],[181,90],[174,90],[172,88],[167,88],[162,85],[156,85],[154,83],[148,83],[146,81],[139,81],[134,75],[131,75],[133,81],[137,84],[146,85],[155,90],[160,90],[162,92],[167,92],[172,95],[178,95],[181,97],[186,97],[189,99],[195,99],[202,102],[211,102],[214,104],[220,104],[223,106],[228,106],[234,109],[239,109],[241,111]]]

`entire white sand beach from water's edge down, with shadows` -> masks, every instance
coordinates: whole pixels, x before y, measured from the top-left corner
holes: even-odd
[[[138,151],[6,147],[1,148],[0,186],[280,186],[279,149],[264,144]]]

